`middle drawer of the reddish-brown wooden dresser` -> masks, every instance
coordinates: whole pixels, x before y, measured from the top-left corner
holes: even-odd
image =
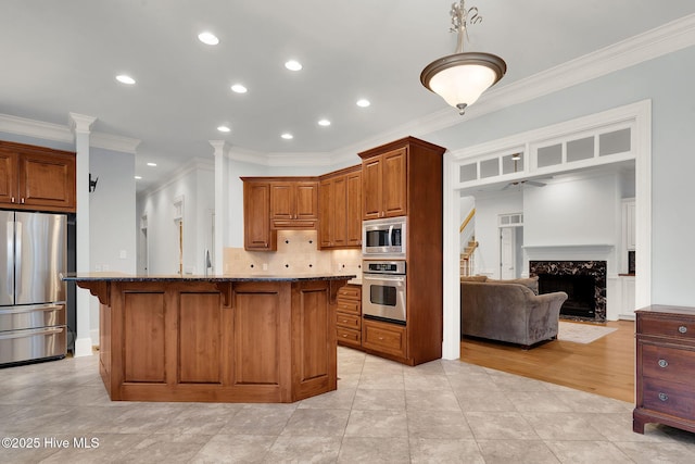
[[[695,351],[640,343],[642,375],[665,381],[695,377]]]

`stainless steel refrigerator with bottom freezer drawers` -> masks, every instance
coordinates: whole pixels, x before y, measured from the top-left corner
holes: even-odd
[[[0,211],[0,366],[65,356],[66,220]]]

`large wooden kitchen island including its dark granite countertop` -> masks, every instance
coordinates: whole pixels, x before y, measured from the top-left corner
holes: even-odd
[[[336,296],[354,277],[63,279],[99,299],[112,400],[288,403],[336,390]]]

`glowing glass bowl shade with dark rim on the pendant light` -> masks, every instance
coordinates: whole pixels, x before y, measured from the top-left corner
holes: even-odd
[[[463,114],[506,71],[504,60],[494,54],[456,53],[430,63],[420,74],[420,81]]]

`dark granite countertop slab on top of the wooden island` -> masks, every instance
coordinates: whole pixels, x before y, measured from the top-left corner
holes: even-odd
[[[70,281],[306,281],[306,280],[350,280],[357,276],[355,274],[295,274],[295,275],[222,275],[222,276],[200,276],[200,275],[134,275],[119,273],[66,273],[61,274],[61,279]]]

